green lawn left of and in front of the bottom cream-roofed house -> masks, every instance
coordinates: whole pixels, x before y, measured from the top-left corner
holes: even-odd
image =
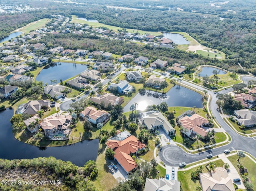
[[[224,162],[219,159],[214,161],[216,163],[216,167],[222,167],[224,165]],[[196,170],[197,167],[194,167],[192,169],[189,169],[187,171],[178,171],[178,181],[181,183],[182,190],[186,191],[193,191],[196,190],[196,186],[200,186],[200,182],[198,180],[194,180],[191,178],[190,174],[193,170]],[[206,168],[203,169],[203,172],[206,173]]]

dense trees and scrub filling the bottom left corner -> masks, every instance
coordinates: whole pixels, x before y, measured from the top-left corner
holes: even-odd
[[[97,174],[96,163],[90,160],[83,167],[78,167],[70,161],[65,162],[53,157],[0,159],[0,190],[96,191],[90,180],[93,180]],[[25,182],[30,182],[30,184],[25,184]]]

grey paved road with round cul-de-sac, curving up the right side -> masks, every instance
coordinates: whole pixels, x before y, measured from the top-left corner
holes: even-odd
[[[249,80],[255,79],[254,77],[242,77],[242,80],[247,83]],[[183,83],[187,83],[186,81],[183,81]],[[197,85],[190,84],[190,86],[197,88],[197,89],[204,89],[202,87],[197,87]],[[231,92],[233,89],[228,88],[220,91],[221,94],[226,94],[228,92]],[[212,111],[213,116],[215,117],[216,121],[220,124],[224,130],[230,135],[232,138],[232,141],[230,144],[214,148],[211,150],[207,150],[205,152],[200,152],[198,154],[187,154],[182,150],[182,148],[178,146],[173,145],[167,145],[162,148],[162,151],[159,153],[160,159],[166,163],[167,165],[171,166],[178,166],[180,162],[186,162],[191,163],[198,161],[200,159],[205,159],[208,154],[212,154],[213,156],[222,154],[224,150],[243,150],[248,153],[250,153],[252,156],[256,157],[256,140],[254,138],[244,137],[232,130],[228,124],[223,120],[223,118],[220,116],[220,113],[217,110],[217,104],[216,104],[216,94],[214,94],[212,91],[208,92],[211,96],[211,102],[210,102],[210,109]]]

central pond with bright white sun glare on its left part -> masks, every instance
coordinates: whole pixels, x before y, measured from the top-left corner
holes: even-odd
[[[155,93],[154,91],[145,91],[145,95],[140,95],[140,93],[138,93],[124,107],[124,112],[130,111],[130,106],[134,104],[134,102],[138,104],[138,110],[145,110],[148,105],[158,105],[161,102],[166,102],[168,106],[203,107],[202,95],[184,87],[174,86],[162,98],[157,98],[154,94],[162,95],[161,93]]]

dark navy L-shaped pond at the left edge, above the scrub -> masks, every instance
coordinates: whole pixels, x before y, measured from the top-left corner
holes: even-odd
[[[33,159],[53,156],[63,161],[83,166],[88,160],[96,160],[99,140],[84,140],[76,144],[60,147],[39,148],[16,140],[12,134],[10,118],[13,110],[0,112],[0,158],[2,159]]]

